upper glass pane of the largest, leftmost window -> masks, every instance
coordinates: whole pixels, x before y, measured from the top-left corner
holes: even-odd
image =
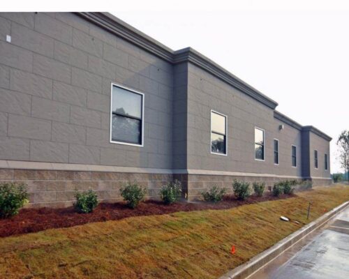
[[[112,112],[141,118],[142,95],[117,86],[112,87],[112,94]]]

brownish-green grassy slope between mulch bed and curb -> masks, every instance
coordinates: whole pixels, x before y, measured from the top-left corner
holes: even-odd
[[[280,221],[281,215],[308,223],[348,199],[348,186],[318,188],[235,209],[7,237],[0,239],[0,278],[217,278],[302,226]]]

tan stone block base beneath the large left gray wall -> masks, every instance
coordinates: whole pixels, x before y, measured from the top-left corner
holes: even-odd
[[[65,207],[73,204],[76,191],[89,189],[96,191],[100,202],[121,201],[120,188],[128,181],[138,181],[140,186],[147,188],[147,199],[158,199],[161,187],[172,181],[172,174],[0,169],[0,179],[25,183],[29,207]]]

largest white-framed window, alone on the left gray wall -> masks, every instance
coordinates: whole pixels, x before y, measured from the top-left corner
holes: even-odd
[[[143,146],[144,94],[112,84],[110,142]]]

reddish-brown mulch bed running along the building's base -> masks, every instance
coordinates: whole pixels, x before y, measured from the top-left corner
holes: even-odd
[[[22,209],[17,216],[0,220],[0,237],[40,232],[44,229],[59,227],[73,227],[86,223],[103,222],[107,220],[120,220],[132,216],[149,216],[174,213],[177,211],[195,211],[206,209],[231,209],[243,204],[255,204],[268,200],[286,199],[294,195],[281,195],[273,197],[267,193],[263,197],[252,195],[244,201],[228,196],[216,204],[210,202],[176,202],[166,205],[163,202],[149,200],[142,202],[136,209],[129,209],[124,202],[114,204],[99,204],[93,213],[76,213],[73,207],[66,209]]]

